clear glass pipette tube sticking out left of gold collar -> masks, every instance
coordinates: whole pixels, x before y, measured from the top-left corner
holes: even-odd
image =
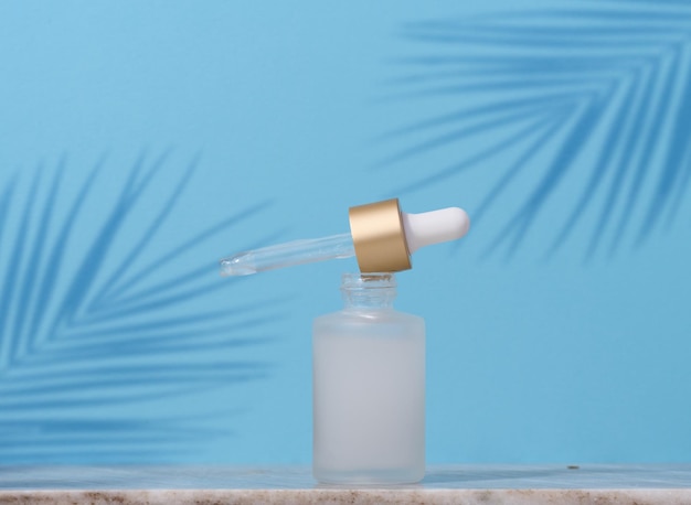
[[[221,260],[221,275],[249,276],[275,268],[355,256],[351,234],[293,240],[277,246],[246,250]]]

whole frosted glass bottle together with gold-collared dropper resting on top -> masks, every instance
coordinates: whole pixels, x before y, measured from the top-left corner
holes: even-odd
[[[463,237],[461,208],[401,212],[398,200],[349,209],[350,234],[244,251],[221,261],[224,276],[357,256],[342,278],[346,307],[312,331],[313,464],[319,482],[398,484],[425,473],[425,323],[393,309],[392,272],[411,255]]]

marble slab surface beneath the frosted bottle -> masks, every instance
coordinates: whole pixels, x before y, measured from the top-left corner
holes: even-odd
[[[0,504],[691,504],[691,464],[444,465],[405,486],[326,486],[309,468],[0,466]]]

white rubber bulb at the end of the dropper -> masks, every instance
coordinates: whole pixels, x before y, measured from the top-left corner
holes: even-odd
[[[443,241],[456,240],[468,233],[470,218],[459,207],[440,208],[422,214],[403,215],[403,227],[408,253],[412,255],[421,247]]]

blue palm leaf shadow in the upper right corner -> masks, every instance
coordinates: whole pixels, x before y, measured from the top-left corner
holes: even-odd
[[[385,136],[398,142],[426,139],[413,140],[379,168],[453,149],[448,166],[402,184],[398,191],[406,193],[463,180],[464,172],[487,169],[507,153],[518,158],[472,212],[476,223],[489,213],[504,214],[486,254],[518,250],[564,191],[578,196],[571,198],[562,226],[552,229],[548,256],[565,246],[591,208],[586,257],[600,248],[614,254],[625,244],[637,247],[676,221],[691,181],[687,3],[578,2],[415,22],[404,26],[403,36],[419,54],[398,62],[406,73],[394,80],[394,97],[443,101],[445,111]],[[493,139],[477,147],[480,136]],[[585,160],[584,152],[595,155]],[[518,207],[499,208],[519,171],[529,172],[528,163],[538,174],[532,190]],[[565,190],[566,180],[571,187]]]

